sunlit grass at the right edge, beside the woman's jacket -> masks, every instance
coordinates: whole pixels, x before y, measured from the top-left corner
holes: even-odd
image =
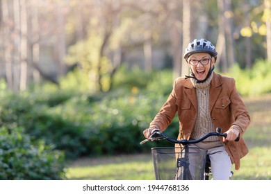
[[[234,173],[234,179],[271,179],[271,94],[245,98],[245,104],[252,118],[245,141],[249,154],[241,160],[241,168]]]

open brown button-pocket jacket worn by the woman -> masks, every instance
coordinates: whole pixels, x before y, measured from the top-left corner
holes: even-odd
[[[247,108],[236,90],[235,80],[213,72],[210,87],[210,114],[215,127],[221,127],[222,132],[236,125],[240,132],[240,140],[223,143],[232,164],[236,170],[240,168],[240,159],[249,152],[243,133],[250,123]],[[177,78],[172,93],[166,103],[156,114],[150,128],[165,130],[178,112],[179,136],[178,139],[189,139],[197,118],[196,89],[190,79]],[[221,138],[222,141],[222,138]]]

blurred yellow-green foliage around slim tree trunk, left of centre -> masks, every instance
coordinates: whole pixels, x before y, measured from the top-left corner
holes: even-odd
[[[90,22],[91,24],[92,22]],[[81,75],[84,78],[88,77],[88,82],[91,84],[88,87],[99,91],[108,91],[110,89],[110,73],[113,71],[113,64],[106,56],[104,46],[109,44],[111,33],[108,34],[108,39],[104,39],[104,32],[99,31],[101,28],[99,28],[98,21],[93,23],[93,27],[96,30],[90,30],[85,40],[69,46],[65,62],[69,65],[81,65]],[[80,80],[81,77],[77,79],[77,81]]]

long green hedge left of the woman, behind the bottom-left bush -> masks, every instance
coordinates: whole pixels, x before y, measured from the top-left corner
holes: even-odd
[[[69,159],[142,152],[139,144],[142,130],[148,127],[172,89],[169,72],[146,76],[138,71],[135,74],[142,74],[140,79],[134,76],[136,80],[126,87],[120,85],[113,91],[95,95],[67,89],[6,93],[0,96],[0,123],[8,129],[24,127],[33,140],[53,143]],[[129,76],[126,78],[129,80]]]

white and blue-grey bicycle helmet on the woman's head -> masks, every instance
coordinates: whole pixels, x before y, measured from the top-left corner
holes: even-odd
[[[209,53],[212,57],[217,58],[217,51],[215,50],[215,46],[206,40],[206,39],[194,39],[192,42],[188,44],[186,51],[183,55],[183,58],[187,60],[187,58],[193,53]]]

